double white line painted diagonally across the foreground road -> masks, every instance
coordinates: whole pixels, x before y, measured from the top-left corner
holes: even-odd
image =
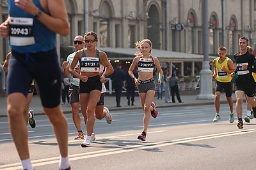
[[[193,141],[202,141],[206,139],[214,139],[214,138],[224,138],[227,136],[235,136],[239,134],[248,134],[256,132],[256,129],[248,129],[248,130],[242,130],[242,131],[232,131],[232,132],[223,132],[218,134],[209,134],[209,135],[203,135],[203,136],[195,136],[190,138],[182,138],[182,139],[173,139],[171,141],[160,141],[156,143],[138,143],[137,146],[125,146],[122,148],[112,148],[112,149],[106,149],[106,150],[98,150],[93,152],[86,152],[86,153],[76,153],[72,155],[68,155],[70,158],[70,161],[72,160],[81,160],[81,159],[87,159],[87,158],[93,158],[93,157],[101,157],[106,155],[113,155],[117,153],[125,153],[125,152],[132,152],[136,150],[145,150],[148,148],[158,148],[161,146],[170,146],[170,145],[176,145],[180,143],[189,143]],[[38,166],[45,166],[49,164],[58,164],[60,161],[60,157],[51,157],[47,159],[38,159],[38,160],[32,160],[33,167]],[[22,166],[20,166],[19,163],[13,163],[13,164],[6,164],[0,166],[0,169],[22,169]]]

